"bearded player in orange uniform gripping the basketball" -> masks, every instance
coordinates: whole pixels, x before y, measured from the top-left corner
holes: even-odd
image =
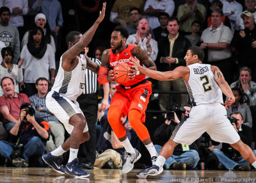
[[[101,58],[98,77],[100,84],[114,81],[112,68],[115,68],[118,63],[124,62],[132,65],[129,59],[130,56],[140,58],[141,65],[156,70],[154,61],[148,57],[147,51],[143,47],[125,43],[128,36],[127,29],[122,27],[116,27],[112,32],[111,49],[105,50]],[[143,125],[145,122],[145,110],[152,93],[152,84],[150,81],[145,80],[144,74],[136,73],[134,69],[130,69],[130,71],[131,74],[128,74],[129,81],[116,86],[116,93],[111,99],[108,111],[109,124],[127,152],[127,159],[122,169],[123,173],[128,173],[132,170],[134,163],[140,159],[141,154],[132,147],[127,138],[124,126],[120,121],[122,116],[128,115],[129,123],[141,141],[143,141],[145,147],[147,147],[152,163],[157,157],[156,148],[150,139],[147,128]]]

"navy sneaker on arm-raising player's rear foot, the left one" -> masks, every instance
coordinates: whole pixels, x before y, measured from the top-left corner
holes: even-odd
[[[42,159],[45,163],[49,164],[53,168],[53,170],[61,174],[65,173],[64,168],[61,166],[60,156],[52,155],[51,152],[47,152],[47,154],[42,155]]]

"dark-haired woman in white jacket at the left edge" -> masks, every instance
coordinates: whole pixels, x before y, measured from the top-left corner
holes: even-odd
[[[19,83],[23,81],[22,75],[22,61],[20,60],[18,65],[12,64],[13,52],[11,47],[4,47],[1,51],[3,62],[0,65],[0,80],[3,77],[11,77],[15,83],[14,91],[19,93]],[[0,88],[0,96],[3,95],[3,90]]]

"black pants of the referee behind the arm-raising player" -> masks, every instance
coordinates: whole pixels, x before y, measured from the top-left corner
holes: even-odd
[[[83,111],[89,129],[90,139],[79,147],[78,159],[80,163],[91,162],[96,159],[96,123],[98,111],[97,93],[82,94],[77,98],[80,109]]]

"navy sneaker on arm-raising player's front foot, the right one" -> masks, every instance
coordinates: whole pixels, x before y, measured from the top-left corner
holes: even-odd
[[[88,177],[90,175],[89,172],[81,168],[81,164],[78,162],[77,158],[66,164],[65,173],[80,178]]]

